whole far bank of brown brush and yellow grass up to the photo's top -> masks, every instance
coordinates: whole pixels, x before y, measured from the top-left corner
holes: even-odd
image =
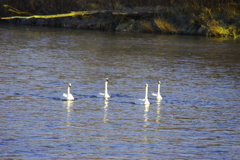
[[[11,23],[214,37],[240,35],[239,0],[2,0],[0,5],[1,17],[109,11],[56,19],[5,20]]]

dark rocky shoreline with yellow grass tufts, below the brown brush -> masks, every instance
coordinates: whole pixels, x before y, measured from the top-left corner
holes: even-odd
[[[60,18],[13,18],[2,23],[107,30],[119,32],[184,34],[210,37],[240,35],[240,14],[201,10],[182,10],[176,7],[95,10],[94,14]]]

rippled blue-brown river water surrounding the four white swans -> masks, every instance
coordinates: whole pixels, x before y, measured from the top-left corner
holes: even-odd
[[[5,25],[0,39],[1,159],[239,158],[239,40]],[[145,83],[150,106],[133,104]]]

